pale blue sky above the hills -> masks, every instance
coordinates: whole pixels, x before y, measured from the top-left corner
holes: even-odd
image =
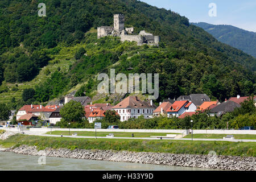
[[[175,11],[189,22],[229,24],[256,32],[256,0],[141,0],[149,5]],[[210,17],[210,3],[217,6],[217,16]]]

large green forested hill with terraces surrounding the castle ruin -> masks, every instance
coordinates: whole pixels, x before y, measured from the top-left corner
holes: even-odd
[[[41,2],[45,17],[38,16]],[[160,47],[97,40],[95,28],[113,26],[117,13],[135,33],[159,35]],[[110,67],[159,73],[159,100],[189,93],[220,100],[255,93],[254,57],[218,42],[184,16],[140,1],[2,0],[0,26],[1,101],[15,103],[24,88],[35,89],[31,102],[47,102],[72,89],[92,94],[94,76]],[[133,71],[127,71],[129,63]]]

